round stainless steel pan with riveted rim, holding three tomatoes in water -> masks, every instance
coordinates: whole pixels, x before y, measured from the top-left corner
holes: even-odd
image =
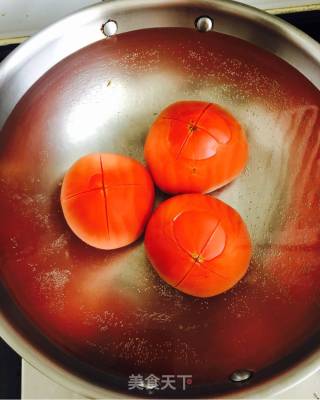
[[[158,397],[262,397],[314,372],[319,87],[312,39],[226,1],[108,2],[20,46],[0,67],[1,335],[90,397],[146,394],[128,391],[139,373],[192,375],[187,391]],[[206,300],[163,283],[142,241],[112,252],[84,245],[59,207],[77,158],[143,161],[151,122],[182,99],[227,107],[250,143],[246,172],[213,194],[249,227],[250,270]]]

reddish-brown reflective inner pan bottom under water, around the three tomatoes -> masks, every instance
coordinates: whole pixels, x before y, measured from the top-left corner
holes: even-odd
[[[250,144],[245,172],[213,193],[247,223],[250,269],[210,299],[162,282],[142,240],[109,252],[86,246],[59,204],[76,159],[108,151],[143,161],[148,127],[183,99],[226,107]],[[80,50],[31,88],[2,130],[2,279],[39,330],[123,382],[187,373],[214,393],[236,369],[259,375],[319,326],[319,105],[319,91],[288,64],[218,33],[150,29]]]

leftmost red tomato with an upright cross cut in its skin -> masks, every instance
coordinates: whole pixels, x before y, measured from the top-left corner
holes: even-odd
[[[154,187],[137,161],[117,154],[80,158],[64,177],[61,205],[72,231],[99,249],[134,242],[152,211]]]

